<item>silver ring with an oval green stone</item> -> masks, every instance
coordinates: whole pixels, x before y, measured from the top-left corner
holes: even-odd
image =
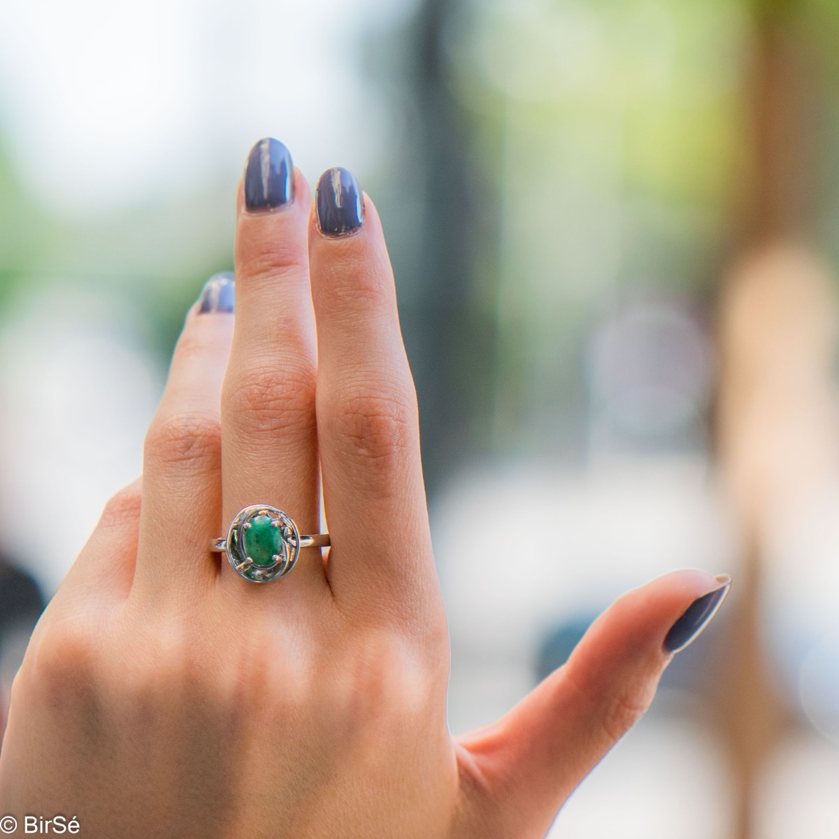
[[[288,513],[270,504],[242,508],[227,529],[213,539],[210,550],[226,553],[239,576],[251,582],[270,582],[294,568],[300,548],[327,548],[329,534],[301,536]]]

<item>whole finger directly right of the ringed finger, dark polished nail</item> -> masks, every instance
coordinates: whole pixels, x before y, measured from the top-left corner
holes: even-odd
[[[427,617],[440,598],[414,383],[382,227],[346,169],[320,177],[309,248],[332,590],[370,614]]]

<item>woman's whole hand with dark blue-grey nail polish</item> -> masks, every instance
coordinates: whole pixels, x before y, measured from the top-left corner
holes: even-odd
[[[62,814],[122,839],[544,836],[726,582],[680,571],[630,592],[519,706],[452,739],[414,387],[352,175],[323,175],[311,207],[284,146],[254,147],[235,330],[231,311],[216,278],[175,350],[142,491],[108,503],[35,630],[0,816],[19,835],[24,814]],[[253,585],[209,553],[249,504],[320,532],[319,475],[326,562],[304,549]]]

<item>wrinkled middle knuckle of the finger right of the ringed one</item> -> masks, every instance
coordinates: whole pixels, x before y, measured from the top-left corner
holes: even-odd
[[[416,404],[402,388],[357,388],[329,412],[328,434],[341,453],[366,468],[393,466],[416,436]]]

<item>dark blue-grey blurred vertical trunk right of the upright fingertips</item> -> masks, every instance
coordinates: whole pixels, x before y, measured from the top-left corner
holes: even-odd
[[[413,303],[400,311],[420,401],[430,494],[457,466],[486,455],[496,352],[494,315],[476,305],[476,284],[486,292],[497,278],[476,248],[495,241],[497,201],[472,162],[470,115],[447,81],[445,29],[459,3],[425,0],[409,29],[406,81],[417,112],[397,175],[399,180],[406,166],[413,169],[417,191],[411,199],[424,199],[418,219],[422,247],[397,273],[411,275],[416,289]],[[478,276],[479,270],[484,274]]]

